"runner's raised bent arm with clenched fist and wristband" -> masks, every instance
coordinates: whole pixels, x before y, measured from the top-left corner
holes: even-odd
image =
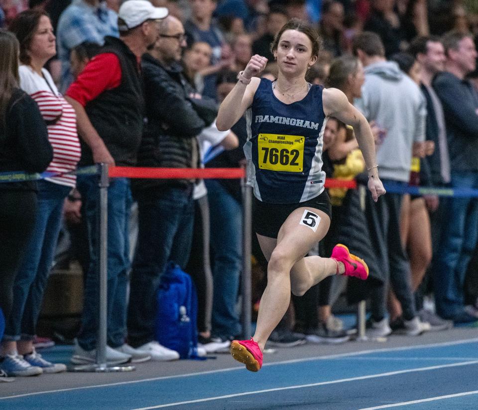
[[[260,82],[260,79],[254,77],[254,75],[259,74],[264,69],[265,64],[267,64],[267,58],[257,54],[251,57],[240,77],[242,81],[237,82],[219,107],[218,118],[216,119],[216,127],[219,131],[231,129],[252,104]],[[250,80],[249,84],[245,83],[247,80]]]

